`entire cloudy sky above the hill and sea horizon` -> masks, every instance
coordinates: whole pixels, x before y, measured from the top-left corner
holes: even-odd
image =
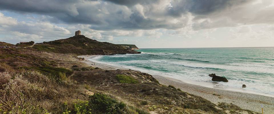
[[[0,41],[74,36],[139,48],[274,46],[273,0],[0,0]]]

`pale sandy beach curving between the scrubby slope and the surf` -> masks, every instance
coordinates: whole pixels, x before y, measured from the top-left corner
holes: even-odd
[[[111,66],[96,62],[94,65],[94,62],[88,61],[88,59],[95,56],[97,55],[86,55],[78,57],[85,58],[85,61],[83,62],[92,67],[98,67],[105,70],[128,70],[128,68]],[[197,82],[188,80],[182,81],[158,75],[153,75],[153,77],[156,78],[160,84],[173,85],[177,88],[180,88],[182,91],[201,96],[215,104],[218,104],[218,102],[233,103],[242,109],[248,109],[258,113],[261,113],[261,104],[263,104],[265,114],[274,113],[274,97],[269,94],[260,93],[259,95],[259,93],[253,91],[242,91],[241,89],[228,87],[212,87],[214,82]]]

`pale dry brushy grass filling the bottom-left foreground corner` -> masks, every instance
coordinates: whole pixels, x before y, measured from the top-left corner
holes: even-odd
[[[0,63],[0,113],[62,113],[67,99],[86,99],[86,89],[60,73],[55,80],[35,70],[9,67]]]

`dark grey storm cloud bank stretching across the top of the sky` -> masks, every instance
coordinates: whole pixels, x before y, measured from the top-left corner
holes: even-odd
[[[178,29],[193,18],[195,30],[266,22],[265,16],[243,19],[236,12],[254,0],[0,0],[0,10],[47,15],[52,23],[89,24],[96,30]],[[264,1],[265,2],[265,1]],[[258,6],[259,7],[259,6]],[[243,10],[245,11],[245,10]],[[259,13],[258,13],[259,14]],[[238,16],[238,17],[237,17]],[[225,23],[216,19],[225,18]],[[259,19],[258,19],[259,18]],[[46,18],[47,19],[47,18]],[[196,22],[195,20],[206,19]],[[60,21],[56,21],[60,20]],[[258,21],[259,20],[259,21]],[[269,19],[268,19],[269,20]],[[272,22],[272,20],[271,20]]]

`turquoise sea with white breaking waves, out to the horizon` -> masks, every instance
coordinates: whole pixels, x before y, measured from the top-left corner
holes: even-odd
[[[274,47],[248,48],[156,48],[141,54],[97,56],[92,61],[124,66],[175,78],[212,82],[208,74],[226,77],[227,86],[274,95]]]

